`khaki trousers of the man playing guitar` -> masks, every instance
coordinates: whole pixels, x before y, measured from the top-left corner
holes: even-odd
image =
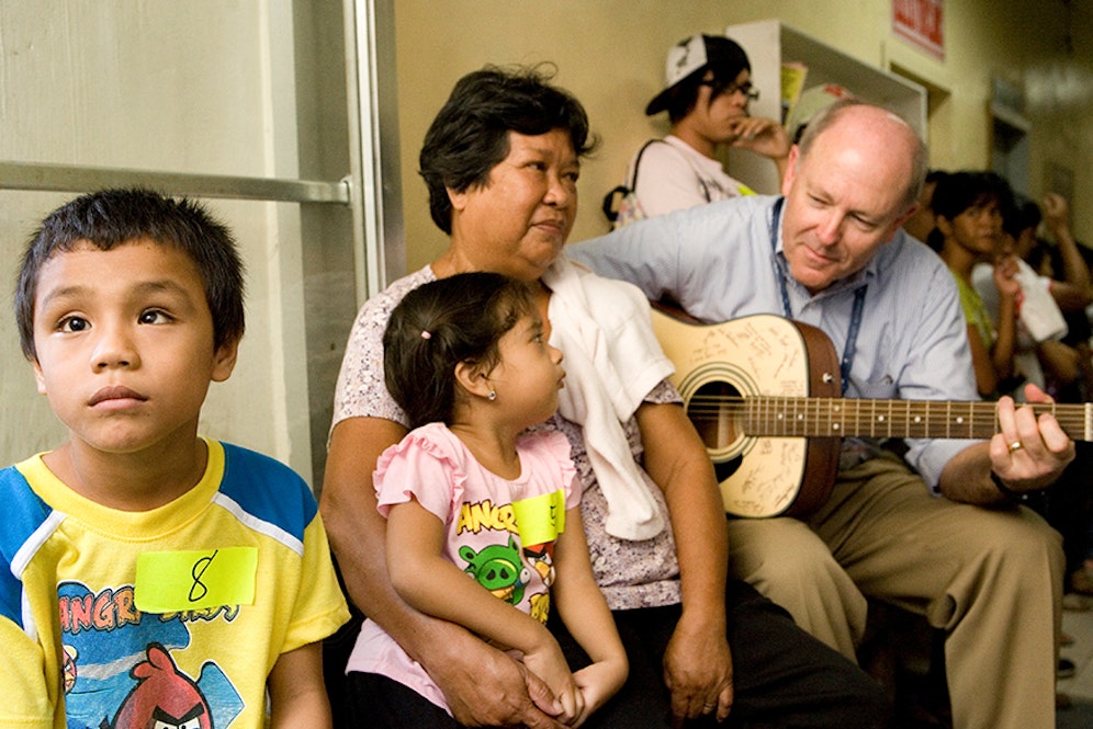
[[[729,537],[730,573],[850,659],[866,595],[944,629],[957,729],[1053,729],[1062,539],[1032,510],[933,497],[879,457],[807,523],[730,520]]]

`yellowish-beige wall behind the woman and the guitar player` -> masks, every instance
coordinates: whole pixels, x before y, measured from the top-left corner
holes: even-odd
[[[1004,4],[1005,11],[999,10]],[[1079,3],[1075,3],[1079,4]],[[582,171],[582,208],[573,240],[606,230],[604,193],[621,180],[642,140],[665,133],[645,103],[663,83],[668,46],[695,32],[779,18],[799,31],[880,68],[895,67],[942,91],[931,113],[932,163],[944,169],[990,164],[988,102],[992,77],[1026,83],[1044,100],[1028,112],[1032,190],[1043,194],[1048,162],[1073,172],[1077,231],[1093,243],[1093,122],[1090,122],[1093,21],[1088,7],[1071,21],[1074,56],[1064,56],[1064,12],[1058,0],[961,0],[945,3],[946,58],[936,61],[890,32],[888,0],[398,0],[395,5],[399,134],[407,264],[431,260],[446,244],[428,216],[417,153],[433,114],[463,73],[493,64],[557,66],[556,82],[586,105],[602,139]],[[1060,103],[1067,79],[1078,102]],[[777,90],[763,90],[777,93]],[[663,116],[663,115],[662,115]],[[1088,232],[1086,232],[1088,231]]]

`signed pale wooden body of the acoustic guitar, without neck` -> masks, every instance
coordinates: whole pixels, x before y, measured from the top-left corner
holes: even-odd
[[[840,397],[831,340],[815,327],[771,315],[720,324],[681,317],[654,308],[653,329],[676,366],[672,383],[706,443],[725,512],[759,519],[818,509],[834,485],[842,438],[752,435],[739,408],[721,403],[757,396]]]

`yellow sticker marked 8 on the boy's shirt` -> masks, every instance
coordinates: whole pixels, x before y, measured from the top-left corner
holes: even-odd
[[[252,605],[257,547],[146,551],[137,557],[134,599],[144,613]]]

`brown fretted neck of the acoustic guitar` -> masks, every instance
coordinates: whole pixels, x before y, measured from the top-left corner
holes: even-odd
[[[730,412],[741,408],[735,414],[748,435],[989,438],[999,432],[994,402],[776,396],[734,399],[735,406],[722,405]],[[1037,414],[1053,414],[1072,440],[1093,440],[1093,403],[1032,408]]]

